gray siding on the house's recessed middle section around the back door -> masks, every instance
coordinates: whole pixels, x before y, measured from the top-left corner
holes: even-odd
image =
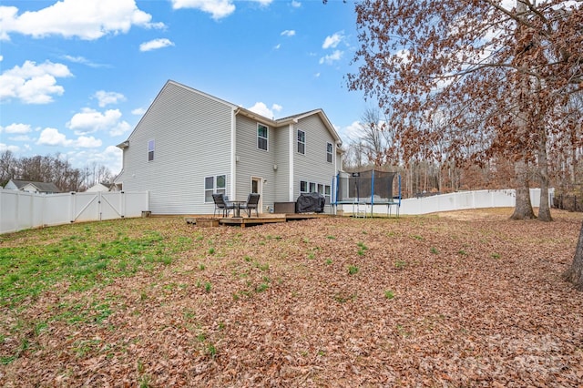
[[[276,182],[273,170],[273,165],[276,163],[275,129],[267,125],[269,129],[266,151],[257,148],[257,123],[258,121],[249,117],[237,116],[235,154],[238,161],[236,162],[235,199],[247,199],[251,192],[251,178],[261,178],[264,181],[261,211],[264,212],[265,207],[272,206],[275,199]]]

